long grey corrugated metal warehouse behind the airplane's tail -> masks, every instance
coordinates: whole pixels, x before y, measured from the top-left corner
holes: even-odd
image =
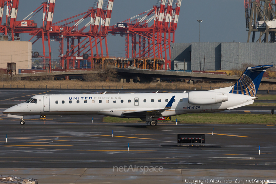
[[[275,43],[172,43],[171,70],[176,70],[175,61],[190,61],[187,70],[232,70],[244,64],[276,64]],[[186,67],[186,66],[185,66]],[[201,68],[201,69],[200,69]]]

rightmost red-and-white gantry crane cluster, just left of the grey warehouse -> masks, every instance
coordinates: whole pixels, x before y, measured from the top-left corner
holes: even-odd
[[[171,42],[174,42],[181,2],[182,0],[176,0],[176,6],[173,8],[173,0],[162,0],[160,6],[153,6],[151,10],[109,28],[109,33],[113,35],[125,35],[125,56],[133,58],[135,67],[162,69],[165,63],[165,69],[169,69],[170,47]],[[129,55],[130,37],[131,55]]]

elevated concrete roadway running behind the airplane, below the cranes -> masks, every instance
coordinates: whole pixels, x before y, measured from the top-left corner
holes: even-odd
[[[197,72],[181,72],[181,71],[160,71],[160,70],[142,70],[142,69],[126,69],[117,68],[118,74],[122,78],[169,78],[169,79],[189,79],[189,80],[205,80],[205,81],[228,81],[236,82],[240,76],[236,75],[221,75]],[[90,73],[100,73],[101,70],[80,70],[80,71],[56,71],[56,72],[41,72],[41,73],[27,73],[18,74],[18,77],[28,78],[36,76],[53,75],[56,77],[84,75]],[[263,83],[276,83],[275,78],[263,78]]]

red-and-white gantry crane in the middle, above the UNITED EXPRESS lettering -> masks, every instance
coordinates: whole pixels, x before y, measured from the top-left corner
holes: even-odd
[[[101,58],[104,58],[102,40],[105,40],[105,51],[107,55],[106,57],[109,57],[106,37],[108,34],[108,27],[110,23],[112,8],[113,0],[108,0],[106,7],[107,10],[104,10],[105,6],[103,6],[103,0],[98,0],[96,8],[90,8],[87,12],[81,13],[79,15],[67,18],[65,20],[53,24],[52,33],[56,33],[61,38],[60,58],[62,67],[65,63],[66,69],[73,69],[75,68],[76,62],[76,67],[80,68],[80,60],[82,59],[90,60],[93,66],[94,64],[96,64],[95,62],[98,62],[98,60],[102,61],[103,59]],[[76,17],[80,16],[82,16],[82,18],[73,20]],[[89,22],[84,27],[79,29],[78,26],[80,25],[80,23],[86,20],[89,20]],[[64,24],[58,26],[58,24],[62,22],[64,22]],[[74,25],[70,27],[71,24]],[[87,32],[84,32],[88,27],[89,30]],[[67,39],[67,52],[65,55],[63,52],[64,39]],[[78,42],[75,43],[75,40],[77,40]],[[93,48],[95,48],[96,50],[95,54],[93,52]],[[100,54],[99,48],[101,51]]]

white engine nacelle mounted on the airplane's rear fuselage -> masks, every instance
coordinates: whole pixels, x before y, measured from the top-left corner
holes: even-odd
[[[188,103],[192,105],[212,105],[227,100],[227,93],[213,91],[192,91],[188,93]]]

